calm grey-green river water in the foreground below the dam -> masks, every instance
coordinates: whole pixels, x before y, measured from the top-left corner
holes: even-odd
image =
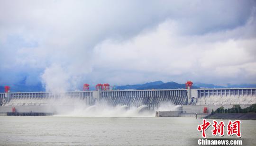
[[[202,119],[181,117],[0,116],[0,145],[186,146],[201,138],[199,124]],[[216,138],[211,129],[207,137]],[[241,120],[241,132],[256,145],[256,120]],[[223,138],[236,136],[225,131]]]

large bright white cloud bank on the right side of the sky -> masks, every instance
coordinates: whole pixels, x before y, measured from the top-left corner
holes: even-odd
[[[200,80],[197,81],[201,82],[208,77],[217,84],[221,82],[216,82],[216,78],[228,77],[230,83],[239,83],[241,80],[233,82],[231,79],[243,75],[250,76],[247,78],[256,77],[256,66],[253,65],[256,63],[253,49],[256,47],[255,38],[237,38],[238,36],[229,35],[227,31],[183,35],[177,31],[182,29],[181,26],[178,22],[167,20],[156,29],[125,41],[103,41],[95,47],[95,57],[101,58],[96,60],[95,65],[101,69],[107,67],[155,72],[159,77],[163,74],[168,74],[170,78],[183,76],[184,79],[192,80],[199,77]],[[245,26],[243,30],[251,29],[250,25]],[[238,27],[229,31],[231,34],[239,32],[239,35],[243,35],[240,29]],[[219,37],[221,35],[226,35],[226,38]],[[249,69],[248,64],[252,64]],[[128,80],[124,78],[122,82]],[[247,82],[254,83],[254,80]]]

